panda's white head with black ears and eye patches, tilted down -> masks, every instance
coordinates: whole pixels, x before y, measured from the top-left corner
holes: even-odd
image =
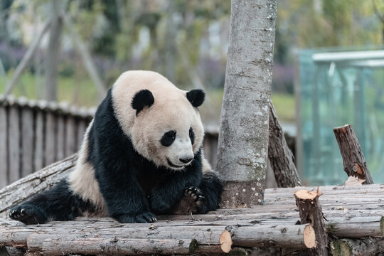
[[[192,163],[203,142],[198,107],[203,104],[205,93],[179,90],[164,79],[146,78],[137,86],[132,86],[134,80],[130,79],[127,88],[135,91],[124,95],[115,93],[114,110],[139,154],[156,166],[182,170]]]

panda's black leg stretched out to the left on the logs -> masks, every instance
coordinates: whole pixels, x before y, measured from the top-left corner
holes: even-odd
[[[46,223],[48,220],[73,220],[93,206],[70,191],[66,178],[49,191],[38,193],[9,211],[9,216],[25,224]]]

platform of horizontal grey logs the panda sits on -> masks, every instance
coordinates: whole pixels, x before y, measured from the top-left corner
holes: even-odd
[[[223,253],[220,235],[228,230],[233,248],[241,247],[244,253],[289,255],[306,249],[305,225],[299,223],[293,196],[299,189],[267,189],[264,206],[220,209],[206,215],[159,216],[156,223],[122,224],[110,218],[79,218],[23,225],[0,219],[0,247],[44,255],[211,254]],[[384,247],[384,184],[321,186],[319,191],[323,193],[321,208],[331,240],[371,237]]]

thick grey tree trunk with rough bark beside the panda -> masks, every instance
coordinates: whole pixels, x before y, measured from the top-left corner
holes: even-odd
[[[233,0],[218,141],[225,208],[262,204],[277,1]]]

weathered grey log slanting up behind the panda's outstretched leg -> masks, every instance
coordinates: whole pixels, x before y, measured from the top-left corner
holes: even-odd
[[[0,190],[0,218],[6,216],[9,208],[58,183],[61,178],[73,170],[77,158],[78,156],[74,154],[2,188]]]

